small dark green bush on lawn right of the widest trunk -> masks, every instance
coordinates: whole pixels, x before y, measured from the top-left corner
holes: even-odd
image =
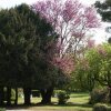
[[[67,101],[70,99],[70,95],[65,91],[59,91],[58,92],[58,102],[59,104],[65,104]]]

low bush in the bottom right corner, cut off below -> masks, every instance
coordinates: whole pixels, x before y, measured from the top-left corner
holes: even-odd
[[[111,108],[103,103],[97,103],[93,105],[93,111],[111,111]]]

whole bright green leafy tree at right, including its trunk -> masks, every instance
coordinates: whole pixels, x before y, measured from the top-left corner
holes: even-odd
[[[105,85],[109,88],[109,95],[111,102],[111,46],[102,44],[95,48],[90,49],[84,60],[87,62],[82,62],[82,67],[79,67],[75,70],[79,74],[79,80],[83,79],[85,82],[81,82],[82,85],[85,83],[93,89],[95,84]],[[85,69],[84,69],[85,68]],[[85,77],[85,78],[83,78]],[[77,78],[78,80],[78,78]],[[90,84],[89,84],[90,83]],[[89,88],[89,87],[88,87]]]

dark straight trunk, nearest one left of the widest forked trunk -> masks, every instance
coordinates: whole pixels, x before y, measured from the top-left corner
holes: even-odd
[[[29,105],[31,103],[30,101],[31,89],[23,88],[23,93],[24,93],[24,104]]]

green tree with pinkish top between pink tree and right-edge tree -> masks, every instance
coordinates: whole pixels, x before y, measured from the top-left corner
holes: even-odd
[[[82,58],[78,60],[74,71],[72,72],[71,87],[75,91],[92,91],[95,85],[94,70],[89,70],[88,60]],[[73,89],[74,88],[74,89]]]

